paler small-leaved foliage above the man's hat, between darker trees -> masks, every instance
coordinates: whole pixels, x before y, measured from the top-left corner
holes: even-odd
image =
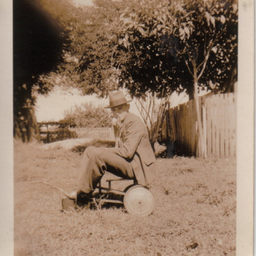
[[[95,4],[76,9],[76,20],[69,34],[71,43],[65,51],[60,74],[70,77],[72,85],[84,95],[97,93],[104,97],[118,88],[112,58],[117,45],[113,23],[119,19],[120,4],[111,0],[97,0]]]

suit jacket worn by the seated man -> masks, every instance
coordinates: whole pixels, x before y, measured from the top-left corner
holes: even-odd
[[[156,157],[148,140],[147,128],[141,119],[128,113],[122,122],[119,140],[117,129],[114,131],[116,147],[109,148],[109,150],[131,163],[138,184],[147,186],[154,182],[157,179]]]

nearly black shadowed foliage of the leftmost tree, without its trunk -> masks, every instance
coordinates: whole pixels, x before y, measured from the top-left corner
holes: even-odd
[[[13,1],[13,86],[15,106],[22,107],[31,100],[31,90],[42,74],[57,70],[62,61],[62,49],[67,38],[67,24],[61,24],[60,6],[67,1],[55,3],[59,14],[49,12],[47,6],[52,0],[15,0]],[[55,1],[56,2],[56,1]],[[67,16],[66,16],[67,19]],[[66,22],[67,23],[67,22]],[[26,84],[26,86],[24,85]],[[23,88],[23,89],[22,89]],[[23,91],[27,93],[22,93]],[[38,88],[47,93],[51,88]],[[27,104],[29,104],[27,102]],[[31,101],[33,104],[33,99]]]

